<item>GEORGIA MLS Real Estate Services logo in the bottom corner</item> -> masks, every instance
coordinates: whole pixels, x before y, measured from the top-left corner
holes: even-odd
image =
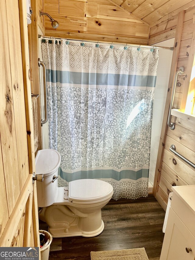
[[[2,247],[0,248],[0,260],[38,260],[39,248]]]

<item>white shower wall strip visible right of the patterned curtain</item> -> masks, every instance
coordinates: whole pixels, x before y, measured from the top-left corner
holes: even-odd
[[[156,46],[172,47],[174,40],[159,42]],[[153,116],[152,116],[152,131],[151,131],[151,154],[149,167],[149,182],[153,185],[154,174],[156,168],[156,160],[158,154],[158,146],[161,135],[162,120],[165,110],[165,102],[167,97],[169,74],[171,69],[172,51],[159,49],[159,61],[157,69],[157,79],[154,94]]]

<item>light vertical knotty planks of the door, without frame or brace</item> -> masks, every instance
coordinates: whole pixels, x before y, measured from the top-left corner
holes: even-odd
[[[19,12],[17,12],[19,7],[17,1],[12,4],[10,1],[1,1],[0,8],[1,24],[4,24],[0,29],[3,46],[0,54],[2,57],[0,65],[0,77],[2,79],[0,87],[0,172],[2,182],[0,189],[2,198],[0,204],[0,236],[29,175],[28,156],[26,157],[28,155],[27,132],[25,128],[21,129],[22,126],[26,126],[26,116],[23,77],[18,73],[22,71],[21,42],[17,37],[20,34],[18,31]],[[13,20],[16,23],[15,30],[12,26]],[[13,44],[15,48],[13,48]],[[16,66],[18,69],[16,69]],[[17,245],[17,241],[18,245],[20,244],[19,241],[23,240],[22,231],[23,222],[21,218],[13,240],[10,237],[10,245]]]

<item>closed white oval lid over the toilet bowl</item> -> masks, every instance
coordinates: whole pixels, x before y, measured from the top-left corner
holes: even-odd
[[[83,179],[69,182],[69,201],[97,201],[112,193],[112,185],[103,180]]]

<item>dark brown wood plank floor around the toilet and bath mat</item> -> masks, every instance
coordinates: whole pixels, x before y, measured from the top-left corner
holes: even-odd
[[[146,249],[149,260],[159,260],[165,211],[149,195],[137,200],[110,201],[102,208],[104,231],[97,237],[54,238],[49,259],[90,260],[90,251]],[[40,221],[40,229],[47,230]]]

